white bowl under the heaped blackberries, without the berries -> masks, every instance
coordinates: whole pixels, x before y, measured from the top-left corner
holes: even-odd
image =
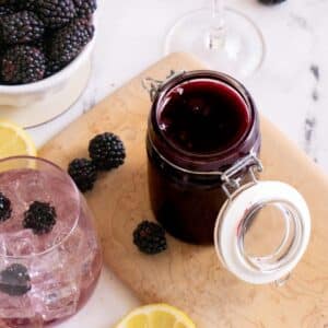
[[[30,84],[0,85],[0,118],[31,128],[69,109],[87,84],[94,45],[95,35],[72,62],[49,78]]]

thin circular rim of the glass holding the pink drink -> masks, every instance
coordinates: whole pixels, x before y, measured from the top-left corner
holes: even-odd
[[[73,188],[74,195],[78,196],[77,197],[77,201],[78,201],[77,206],[79,208],[79,212],[81,212],[81,194],[80,194],[77,185],[74,184],[74,181],[72,180],[72,178],[70,177],[70,175],[66,171],[63,171],[59,165],[55,164],[54,162],[51,162],[49,160],[38,157],[38,156],[28,156],[28,155],[17,155],[17,156],[10,156],[10,157],[0,159],[0,165],[2,163],[8,162],[8,161],[20,161],[20,160],[31,160],[31,161],[45,163],[46,165],[51,166],[52,168],[57,169],[59,173],[63,174],[68,178],[68,181],[70,183],[71,187]],[[11,171],[11,169],[8,169],[8,171]],[[1,174],[1,172],[0,172],[0,174]],[[79,215],[77,215],[74,218],[74,224],[71,226],[70,231],[61,239],[59,239],[58,243],[54,244],[51,247],[46,248],[43,251],[33,253],[33,254],[23,255],[23,256],[0,255],[0,258],[27,259],[27,258],[33,258],[33,257],[45,256],[45,255],[51,253],[52,250],[55,250],[56,248],[58,248],[60,245],[62,245],[71,236],[71,234],[73,233],[73,231],[78,226],[78,222],[79,222]],[[2,233],[0,233],[0,235],[2,235]]]

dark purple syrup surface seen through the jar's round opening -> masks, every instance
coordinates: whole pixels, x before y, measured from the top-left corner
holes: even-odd
[[[250,121],[245,101],[236,91],[206,79],[172,89],[157,115],[167,141],[195,154],[229,149],[243,138]]]

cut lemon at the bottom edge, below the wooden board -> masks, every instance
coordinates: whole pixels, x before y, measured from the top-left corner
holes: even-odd
[[[115,328],[196,328],[196,325],[173,306],[152,304],[136,308]]]

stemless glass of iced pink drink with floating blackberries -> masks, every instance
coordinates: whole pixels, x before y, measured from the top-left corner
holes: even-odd
[[[69,175],[42,159],[0,161],[0,192],[11,204],[0,222],[0,327],[58,324],[86,303],[101,273],[92,214]],[[24,227],[36,201],[56,212],[47,233]]]

